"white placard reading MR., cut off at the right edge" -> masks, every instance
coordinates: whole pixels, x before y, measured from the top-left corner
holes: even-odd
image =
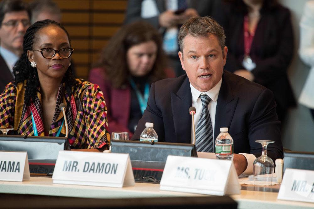
[[[277,199],[314,202],[314,171],[287,168]]]

